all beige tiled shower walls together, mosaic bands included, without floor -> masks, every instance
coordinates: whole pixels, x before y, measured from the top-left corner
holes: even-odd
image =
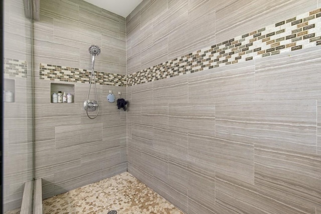
[[[40,3],[32,139],[31,95],[20,94],[31,90],[31,36],[21,36],[31,26],[22,1],[5,1],[4,76],[16,84],[6,210],[32,179],[34,141],[44,198],[128,170],[184,213],[321,212],[320,0],[143,0],[126,18],[84,1]],[[101,108],[90,120],[93,44]],[[74,102],[51,103],[53,84],[71,85]]]

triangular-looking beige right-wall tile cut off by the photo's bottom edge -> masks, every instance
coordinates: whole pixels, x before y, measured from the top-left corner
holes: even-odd
[[[218,213],[303,213],[266,195],[255,185],[220,173],[216,173],[215,179],[215,204]]]

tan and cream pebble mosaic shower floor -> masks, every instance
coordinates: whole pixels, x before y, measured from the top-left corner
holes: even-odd
[[[128,172],[43,200],[44,213],[173,213],[178,208]]]

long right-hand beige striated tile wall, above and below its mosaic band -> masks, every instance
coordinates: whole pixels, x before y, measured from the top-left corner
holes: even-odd
[[[154,51],[155,41],[167,38],[169,64],[184,61],[202,47],[308,17],[318,3],[168,1],[153,15],[155,3],[143,1],[126,20],[127,75],[138,80],[127,86],[128,171],[185,213],[318,213],[319,45],[160,80],[141,64],[141,50]],[[208,28],[187,30],[207,19]],[[151,65],[156,75],[160,63]]]

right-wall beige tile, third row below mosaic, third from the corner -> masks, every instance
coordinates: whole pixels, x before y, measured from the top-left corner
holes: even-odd
[[[254,184],[254,145],[189,134],[189,162]]]

